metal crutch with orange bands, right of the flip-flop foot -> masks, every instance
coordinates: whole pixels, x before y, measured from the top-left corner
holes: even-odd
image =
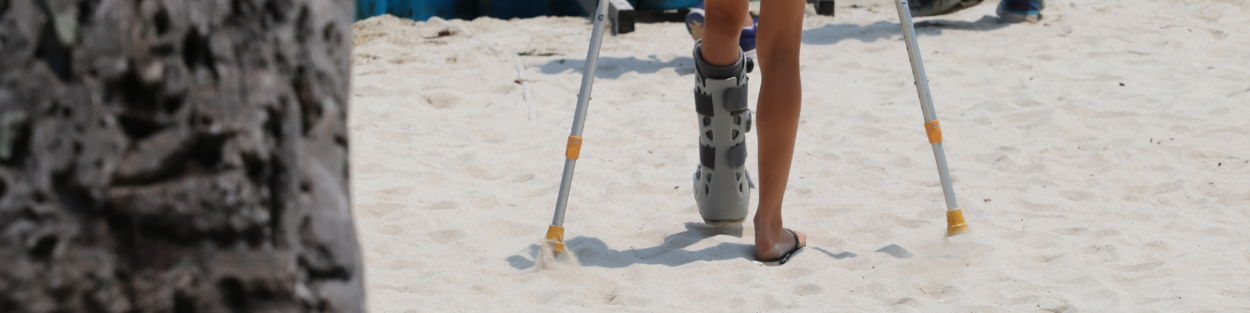
[[[955,202],[955,188],[950,184],[946,153],[941,146],[941,126],[938,123],[938,113],[934,111],[932,96],[929,93],[929,78],[925,75],[925,65],[920,59],[920,44],[916,41],[916,30],[911,24],[911,10],[908,8],[908,0],[896,0],[895,6],[899,9],[902,40],[908,44],[911,75],[916,79],[920,109],[925,115],[925,131],[929,134],[929,143],[934,149],[934,159],[938,162],[938,177],[941,179],[942,195],[946,198],[946,235],[958,235],[968,232],[968,224],[964,222],[964,213],[960,212],[959,203]]]

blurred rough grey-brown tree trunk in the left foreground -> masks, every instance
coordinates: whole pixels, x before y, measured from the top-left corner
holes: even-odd
[[[362,312],[348,0],[0,0],[0,312]]]

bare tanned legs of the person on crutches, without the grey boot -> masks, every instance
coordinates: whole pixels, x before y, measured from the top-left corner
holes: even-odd
[[[755,258],[771,260],[794,248],[794,237],[781,225],[781,198],[790,178],[799,109],[799,44],[802,38],[804,0],[769,0],[760,8],[760,101],[756,109],[760,155],[760,208],[755,213]],[[701,56],[712,65],[738,61],[738,38],[748,25],[746,0],[705,3]],[[798,234],[799,247],[806,235]]]

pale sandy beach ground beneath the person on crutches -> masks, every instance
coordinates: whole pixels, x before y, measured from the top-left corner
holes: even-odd
[[[539,243],[590,24],[450,21],[470,38],[360,21],[351,175],[370,308],[1250,310],[1250,3],[1050,1],[1031,25],[996,24],[995,5],[919,25],[972,228],[949,240],[892,5],[809,14],[785,208],[809,248],[782,267],[751,262],[749,223],[698,214],[681,24],[605,40],[565,220],[575,260],[560,263]]]

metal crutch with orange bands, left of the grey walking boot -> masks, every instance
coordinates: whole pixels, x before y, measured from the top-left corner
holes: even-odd
[[[572,169],[581,153],[581,129],[586,123],[586,106],[590,104],[590,88],[595,83],[595,69],[599,66],[599,48],[604,43],[604,20],[608,16],[608,0],[599,0],[595,9],[594,30],[590,34],[590,49],[586,51],[586,68],[581,71],[581,89],[578,91],[578,109],[572,115],[572,131],[565,148],[564,177],[560,178],[560,194],[555,202],[555,217],[548,228],[548,240],[554,242],[555,254],[564,253],[564,210],[569,205],[569,188],[572,187]]]

